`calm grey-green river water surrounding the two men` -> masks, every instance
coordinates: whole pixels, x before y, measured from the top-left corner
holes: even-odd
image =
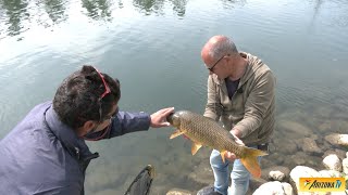
[[[324,136],[348,130],[347,31],[345,0],[1,0],[0,138],[83,64],[121,80],[124,110],[202,113],[208,72],[200,49],[226,35],[277,77],[273,154],[262,166],[321,169],[326,151],[343,152]],[[88,143],[101,157],[88,169],[87,194],[120,194],[148,164],[158,172],[153,194],[203,186],[192,176],[209,166],[210,150],[192,157],[188,141],[169,140],[172,131]],[[322,153],[302,152],[303,138]],[[295,153],[284,150],[289,145]]]

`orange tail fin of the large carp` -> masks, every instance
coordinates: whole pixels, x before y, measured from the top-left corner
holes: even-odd
[[[244,157],[240,158],[240,161],[253,177],[260,178],[261,168],[258,162],[258,156],[265,156],[265,155],[268,155],[268,153],[263,151],[245,147],[245,155]]]

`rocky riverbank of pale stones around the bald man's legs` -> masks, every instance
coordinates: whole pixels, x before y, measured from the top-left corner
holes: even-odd
[[[348,146],[348,134],[328,134],[324,138],[325,142],[328,142],[333,146],[346,147]],[[315,139],[304,138],[301,141],[295,140],[294,142],[301,142],[302,153],[321,154],[322,150],[318,146]],[[284,143],[283,143],[284,145]],[[336,193],[303,193],[299,192],[299,178],[346,178],[348,179],[348,152],[344,153],[344,150],[327,150],[322,155],[322,165],[315,167],[323,167],[322,169],[313,168],[311,165],[313,160],[307,159],[306,155],[295,155],[298,150],[298,145],[291,148],[288,145],[285,150],[293,155],[283,156],[284,160],[288,157],[296,157],[299,165],[289,169],[286,166],[273,166],[262,170],[262,177],[260,179],[251,179],[248,195],[347,195],[345,192]],[[281,156],[279,156],[281,157]],[[272,160],[272,159],[269,159]],[[278,162],[282,161],[277,159]],[[284,161],[283,160],[283,161]],[[296,161],[296,160],[295,160]],[[284,162],[286,164],[286,162]],[[307,165],[309,164],[309,165]],[[191,173],[189,177],[202,183],[212,183],[212,171],[207,166],[197,167],[198,173]],[[348,186],[348,183],[347,185]],[[194,195],[197,192],[190,192],[182,188],[173,188],[166,193],[166,195]],[[348,193],[348,191],[347,191]]]

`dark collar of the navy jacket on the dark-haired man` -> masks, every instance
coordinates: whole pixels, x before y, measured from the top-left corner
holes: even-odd
[[[63,123],[58,114],[52,108],[52,105],[49,106],[45,113],[45,120],[49,130],[61,141],[63,146],[67,150],[67,152],[77,158],[77,160],[89,160],[92,158],[99,157],[98,153],[92,154],[85,140],[78,138],[75,131]]]

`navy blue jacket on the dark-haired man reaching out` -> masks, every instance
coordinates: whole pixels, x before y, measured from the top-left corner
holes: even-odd
[[[110,139],[149,127],[148,114],[120,112],[108,132],[91,136]],[[0,194],[84,194],[86,168],[97,157],[59,120],[51,102],[39,104],[0,141]]]

